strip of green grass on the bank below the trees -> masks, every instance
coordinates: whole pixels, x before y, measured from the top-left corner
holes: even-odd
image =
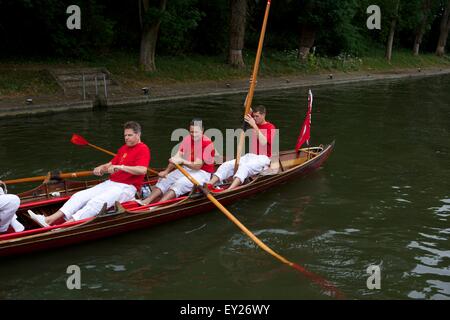
[[[253,70],[254,55],[244,57],[246,67],[235,69],[222,56],[161,56],[156,58],[155,72],[140,71],[137,54],[113,53],[90,61],[27,60],[0,63],[0,97],[51,95],[59,88],[45,72],[49,68],[105,67],[124,88],[143,84],[248,79]],[[410,51],[394,51],[389,64],[384,52],[376,50],[365,57],[341,54],[337,57],[310,55],[305,63],[297,60],[296,51],[266,51],[261,59],[260,77],[302,76],[322,72],[386,72],[408,68],[450,67],[450,57],[434,54],[413,56]]]

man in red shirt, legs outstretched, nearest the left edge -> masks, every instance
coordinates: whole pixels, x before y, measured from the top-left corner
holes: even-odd
[[[150,149],[141,142],[141,126],[134,121],[124,125],[125,144],[108,163],[94,169],[94,174],[111,174],[106,180],[93,188],[75,193],[54,214],[45,217],[28,210],[30,217],[41,226],[49,226],[60,218],[67,222],[94,217],[103,205],[109,208],[116,201],[125,202],[134,199],[140,191],[150,164]]]

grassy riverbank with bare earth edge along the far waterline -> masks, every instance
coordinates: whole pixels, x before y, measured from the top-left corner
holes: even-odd
[[[113,58],[102,60],[102,64],[99,61],[68,65],[62,65],[60,62],[18,61],[0,64],[0,70],[4,71],[0,73],[0,92],[3,93],[0,95],[0,116],[93,109],[98,105],[128,107],[164,100],[245,94],[249,87],[248,77],[251,74],[252,57],[247,57],[247,67],[242,70],[229,68],[213,58],[206,59],[203,66],[194,58],[185,59],[184,62],[180,59],[161,59],[159,70],[151,74],[138,71],[129,56],[114,57],[115,60]],[[292,59],[283,60],[280,53],[266,57],[261,65],[256,91],[450,73],[450,59],[432,55],[412,57],[406,53],[399,54],[392,64],[388,64],[378,56],[365,59],[337,57],[328,60],[324,58],[310,60],[304,65],[292,62]],[[100,100],[93,98],[83,100],[82,96],[65,95],[52,77],[45,72],[61,66],[76,70],[100,65],[112,73],[114,81],[121,87],[120,91],[110,92],[106,99]],[[149,89],[147,95],[143,94],[143,87]]]

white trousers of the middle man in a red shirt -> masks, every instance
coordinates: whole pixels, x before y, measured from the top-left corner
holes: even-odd
[[[183,166],[183,168],[200,184],[208,182],[211,178],[211,174],[204,170],[192,170],[186,166]],[[169,173],[166,178],[160,178],[155,186],[160,189],[163,194],[171,189],[178,198],[191,191],[194,184],[177,169]]]

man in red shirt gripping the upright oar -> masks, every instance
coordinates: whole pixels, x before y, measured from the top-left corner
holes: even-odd
[[[252,114],[245,116],[245,122],[253,129],[250,153],[241,157],[236,173],[234,173],[235,159],[222,163],[208,184],[214,186],[233,176],[233,182],[228,188],[233,189],[244,183],[247,177],[258,174],[269,167],[276,128],[272,123],[266,121],[266,108],[262,105],[256,106]]]

